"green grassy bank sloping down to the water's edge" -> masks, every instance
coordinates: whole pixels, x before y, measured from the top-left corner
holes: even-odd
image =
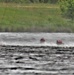
[[[58,5],[0,3],[0,31],[74,32]]]

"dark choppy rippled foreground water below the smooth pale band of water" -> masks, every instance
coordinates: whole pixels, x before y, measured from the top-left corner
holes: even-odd
[[[74,50],[1,47],[0,75],[73,75]]]

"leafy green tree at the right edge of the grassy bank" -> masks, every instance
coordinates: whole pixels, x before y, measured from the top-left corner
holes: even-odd
[[[74,0],[60,0],[62,15],[74,20]]]

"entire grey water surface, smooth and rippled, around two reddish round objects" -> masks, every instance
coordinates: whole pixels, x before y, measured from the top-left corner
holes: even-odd
[[[40,38],[46,43],[40,43]],[[74,49],[32,47],[56,45],[61,39],[64,46],[73,46],[72,33],[0,33],[0,75],[74,75]]]

